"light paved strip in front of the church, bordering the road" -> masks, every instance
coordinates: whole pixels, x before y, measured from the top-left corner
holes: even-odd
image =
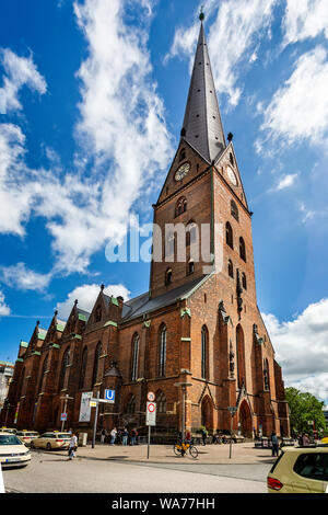
[[[148,458],[148,446],[122,446],[96,443],[95,447],[89,444],[86,447],[79,447],[77,457],[99,459],[99,460],[117,460],[129,462],[153,462],[153,464],[179,464],[181,461],[188,464],[273,464],[276,458],[271,456],[271,449],[257,449],[253,443],[233,444],[232,458],[230,458],[230,445],[206,445],[197,446],[198,458],[194,459],[189,454],[184,458],[175,456],[173,446],[168,445],[151,445],[150,457]],[[67,455],[67,451],[56,451],[59,455]]]

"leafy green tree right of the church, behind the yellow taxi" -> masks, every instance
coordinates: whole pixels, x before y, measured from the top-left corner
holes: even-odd
[[[296,433],[312,433],[314,421],[315,431],[326,430],[326,420],[323,413],[325,402],[320,402],[308,392],[301,392],[296,388],[285,388],[285,398],[290,407],[291,431]]]

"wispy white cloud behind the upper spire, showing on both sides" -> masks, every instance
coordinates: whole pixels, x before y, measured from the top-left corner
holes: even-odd
[[[222,1],[213,23],[207,28],[215,87],[219,93],[229,95],[232,105],[238,103],[242,94],[242,87],[237,85],[241,65],[244,61],[250,66],[257,60],[259,41],[265,35],[269,37],[276,4],[277,0]],[[216,9],[218,2],[206,3],[207,18]],[[189,28],[179,26],[165,60],[178,55],[187,55],[192,60],[198,31],[199,22]]]

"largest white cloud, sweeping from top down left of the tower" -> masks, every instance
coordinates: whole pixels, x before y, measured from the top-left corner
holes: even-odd
[[[78,169],[60,170],[60,159],[28,169],[22,130],[0,125],[0,231],[23,237],[32,216],[46,219],[54,273],[85,272],[108,241],[121,242],[133,203],[173,153],[147,48],[151,5],[142,2],[136,27],[124,20],[131,0],[74,2],[89,53],[78,72]]]

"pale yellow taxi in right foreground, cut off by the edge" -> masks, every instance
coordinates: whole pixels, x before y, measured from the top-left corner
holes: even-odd
[[[267,485],[269,493],[328,493],[328,445],[283,448]]]

